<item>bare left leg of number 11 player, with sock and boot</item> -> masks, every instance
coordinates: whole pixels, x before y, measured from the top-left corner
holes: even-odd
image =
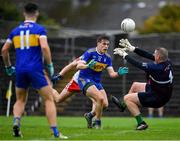
[[[15,137],[22,137],[20,126],[21,116],[24,112],[28,91],[26,89],[16,87],[16,102],[13,107],[13,135]]]

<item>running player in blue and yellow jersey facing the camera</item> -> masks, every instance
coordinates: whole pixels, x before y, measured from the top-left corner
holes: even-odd
[[[93,109],[95,113],[89,112],[84,116],[87,120],[88,128],[92,128],[92,118],[95,116],[95,128],[101,128],[101,116],[102,110],[108,107],[108,99],[106,92],[101,84],[101,74],[103,70],[107,70],[111,78],[119,77],[122,74],[128,73],[128,68],[119,68],[118,72],[115,72],[112,67],[112,60],[107,53],[109,48],[109,38],[105,35],[97,38],[97,46],[88,49],[83,55],[82,60],[84,62],[78,63],[77,69],[80,69],[78,76],[78,85],[82,92],[88,96],[91,100],[94,100]],[[94,63],[88,62],[94,61]]]

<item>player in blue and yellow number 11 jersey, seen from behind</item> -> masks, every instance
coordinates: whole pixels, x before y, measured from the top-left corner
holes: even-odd
[[[16,73],[16,102],[13,108],[13,134],[22,137],[20,120],[25,109],[28,88],[32,85],[45,100],[45,111],[54,137],[67,138],[57,128],[56,107],[52,96],[52,87],[48,85],[43,72],[44,62],[53,76],[54,67],[47,42],[46,30],[36,23],[39,16],[38,6],[28,3],[24,7],[25,21],[14,28],[2,48],[2,56],[7,75]],[[9,49],[13,43],[16,51],[16,67],[10,62]],[[16,72],[15,72],[16,71]]]

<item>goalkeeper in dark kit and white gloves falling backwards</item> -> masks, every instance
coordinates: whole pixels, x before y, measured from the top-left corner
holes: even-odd
[[[124,48],[114,49],[114,54],[122,56],[128,63],[144,70],[148,74],[148,81],[147,83],[133,82],[123,101],[114,96],[112,100],[121,111],[124,111],[126,107],[129,109],[137,120],[136,130],[144,130],[148,128],[148,125],[141,117],[139,106],[159,108],[170,100],[173,89],[172,64],[168,59],[168,51],[165,48],[157,48],[154,54],[150,54],[132,46],[127,39],[121,39],[119,45]],[[153,62],[141,63],[130,57],[125,50],[134,52]]]

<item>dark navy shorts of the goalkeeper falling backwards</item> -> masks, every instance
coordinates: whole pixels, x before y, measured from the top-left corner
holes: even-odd
[[[158,94],[151,89],[149,84],[146,84],[146,92],[139,92],[138,98],[143,107],[160,108],[164,106],[170,99],[164,94]]]

